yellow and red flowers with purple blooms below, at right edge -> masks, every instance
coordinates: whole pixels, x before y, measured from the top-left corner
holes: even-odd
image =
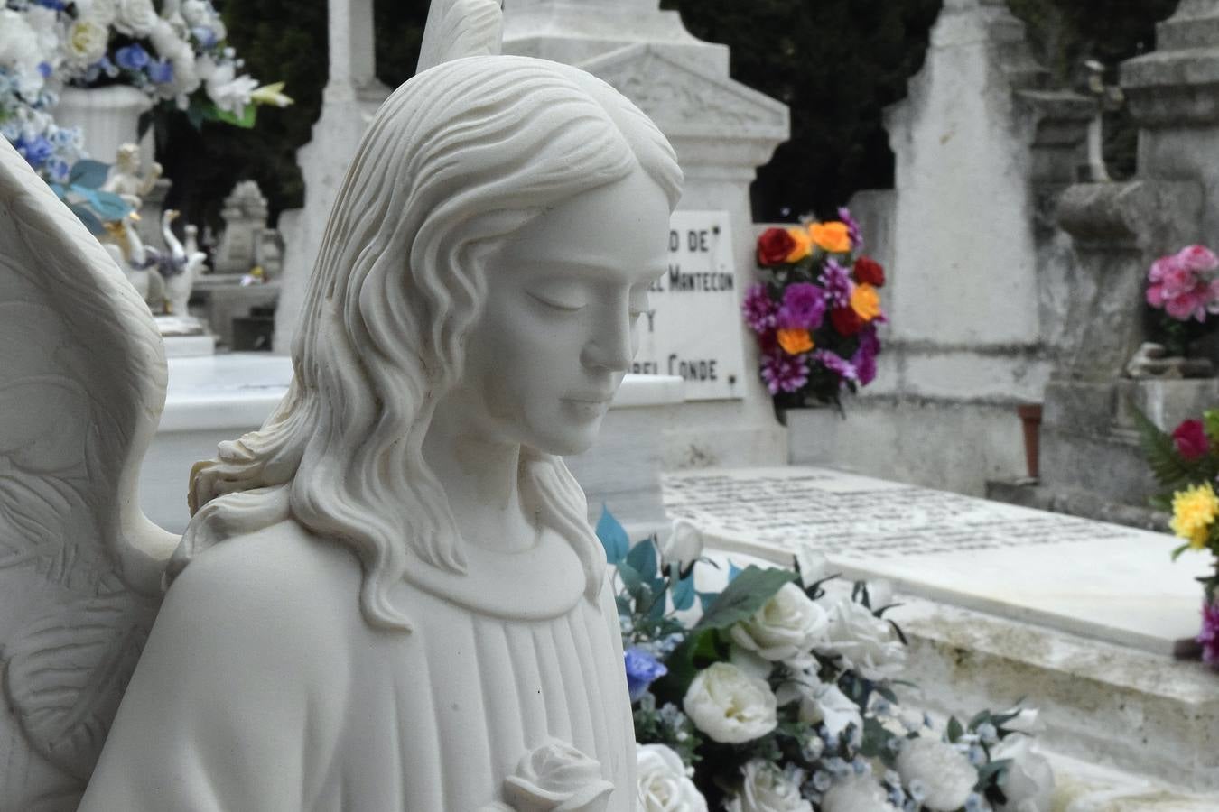
[[[1165,488],[1152,497],[1153,506],[1170,510],[1169,527],[1185,543],[1173,550],[1176,560],[1185,550],[1209,551],[1214,573],[1202,583],[1202,660],[1219,670],[1219,409],[1207,409],[1202,420],[1182,420],[1169,432],[1160,431],[1134,409],[1143,453],[1156,480]]]

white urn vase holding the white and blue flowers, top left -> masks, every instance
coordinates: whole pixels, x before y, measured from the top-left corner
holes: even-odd
[[[60,127],[79,127],[90,158],[113,163],[118,147],[139,141],[140,116],[152,101],[130,85],[65,88],[55,106]],[[152,131],[140,142],[144,162],[152,159]]]

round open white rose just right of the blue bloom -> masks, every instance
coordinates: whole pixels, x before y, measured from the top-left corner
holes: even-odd
[[[779,723],[770,687],[730,662],[700,671],[681,704],[700,730],[724,744],[752,741]]]

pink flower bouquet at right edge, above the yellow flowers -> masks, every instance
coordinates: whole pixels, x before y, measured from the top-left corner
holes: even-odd
[[[1219,313],[1219,257],[1199,245],[1160,257],[1147,271],[1147,304],[1160,312],[1158,337],[1168,354],[1184,357],[1214,327],[1208,317]]]

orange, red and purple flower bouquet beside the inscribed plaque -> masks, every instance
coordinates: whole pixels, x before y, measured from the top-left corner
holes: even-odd
[[[846,208],[839,220],[758,237],[763,281],[746,292],[745,321],[758,336],[762,380],[787,405],[808,398],[840,405],[842,390],[876,376],[885,270],[858,254],[862,247]]]

